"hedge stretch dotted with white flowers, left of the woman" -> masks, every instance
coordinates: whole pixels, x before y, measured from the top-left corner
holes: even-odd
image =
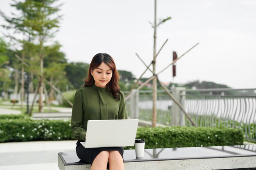
[[[0,119],[0,142],[71,140],[70,126],[70,120]]]

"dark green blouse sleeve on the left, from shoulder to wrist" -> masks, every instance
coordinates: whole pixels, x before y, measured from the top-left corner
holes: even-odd
[[[86,130],[83,128],[83,93],[76,91],[71,116],[72,137],[76,140],[85,140]]]

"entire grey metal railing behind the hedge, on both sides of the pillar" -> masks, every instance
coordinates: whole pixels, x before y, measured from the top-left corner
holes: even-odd
[[[246,140],[256,141],[256,88],[196,89],[185,92],[186,99],[180,102],[197,126],[240,128]],[[128,116],[130,102],[130,99],[126,101]],[[138,118],[151,121],[152,105],[152,91],[139,91]],[[157,123],[173,125],[172,106],[171,98],[164,91],[157,91]],[[185,125],[192,126],[187,118]]]

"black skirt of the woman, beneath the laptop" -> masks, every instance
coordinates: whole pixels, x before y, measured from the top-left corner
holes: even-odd
[[[97,155],[102,151],[110,151],[110,150],[117,150],[124,161],[124,148],[123,147],[104,147],[104,148],[85,148],[80,143],[81,141],[76,142],[76,155],[81,161],[90,163],[92,165],[92,162],[97,157]],[[82,141],[83,142],[83,141]],[[108,169],[107,165],[107,169]]]

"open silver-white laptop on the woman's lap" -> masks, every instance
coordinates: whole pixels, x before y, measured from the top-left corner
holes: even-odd
[[[134,146],[139,119],[88,120],[85,148]]]

